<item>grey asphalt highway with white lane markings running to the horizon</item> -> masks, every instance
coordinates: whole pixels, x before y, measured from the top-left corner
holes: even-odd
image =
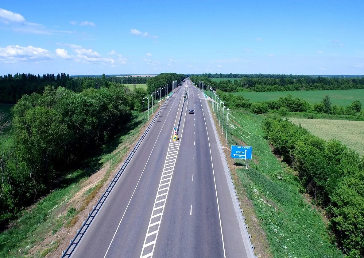
[[[254,257],[211,119],[203,93],[186,79],[71,257]]]

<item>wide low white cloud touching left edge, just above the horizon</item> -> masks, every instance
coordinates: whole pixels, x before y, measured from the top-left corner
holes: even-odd
[[[0,61],[4,63],[16,63],[17,61],[47,61],[54,58],[54,55],[47,49],[36,48],[31,45],[20,47],[19,45],[8,45],[0,47]]]

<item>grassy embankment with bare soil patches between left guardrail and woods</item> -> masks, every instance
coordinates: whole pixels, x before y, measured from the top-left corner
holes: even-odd
[[[19,219],[10,229],[0,233],[0,257],[24,257],[29,250],[43,241],[50,233],[57,233],[62,227],[71,227],[77,221],[77,214],[95,197],[105,184],[110,173],[127,153],[130,145],[137,141],[143,124],[143,114],[133,112],[131,122],[105,144],[101,152],[85,161],[82,168],[72,170],[59,182],[58,187],[27,210],[21,211]],[[83,193],[83,205],[78,209],[67,205],[68,201],[82,188],[82,183],[103,166],[108,167],[101,180]],[[67,211],[66,211],[67,210]],[[73,237],[73,235],[71,236]],[[57,249],[60,240],[51,242],[46,249],[37,251],[36,257],[44,257]],[[34,254],[31,254],[34,256]]]

